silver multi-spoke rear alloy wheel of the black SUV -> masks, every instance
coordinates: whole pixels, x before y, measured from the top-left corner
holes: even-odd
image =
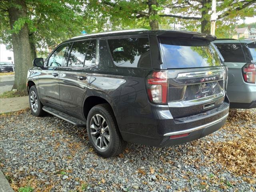
[[[110,131],[106,119],[95,114],[90,121],[90,134],[94,144],[100,150],[105,150],[110,143]]]

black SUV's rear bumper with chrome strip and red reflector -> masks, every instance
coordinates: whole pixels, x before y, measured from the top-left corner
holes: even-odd
[[[129,121],[125,119],[126,115],[122,116],[121,121],[117,118],[123,139],[138,144],[164,147],[190,142],[220,129],[228,117],[229,105],[224,102],[214,110],[179,119],[172,118],[169,110],[157,106],[151,106],[151,115],[146,118],[145,110],[143,109],[140,115],[136,110],[123,111],[123,114],[129,113],[129,116],[133,116],[129,124],[126,124],[126,121]],[[188,136],[185,137],[170,138],[187,133]]]

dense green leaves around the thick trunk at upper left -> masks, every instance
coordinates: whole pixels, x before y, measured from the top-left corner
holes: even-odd
[[[30,42],[35,44],[38,50],[42,48],[54,48],[56,44],[64,39],[80,34],[82,30],[86,30],[82,25],[87,20],[88,14],[84,14],[82,6],[83,1],[67,0],[67,1],[52,1],[52,0],[25,0],[26,3],[26,18],[19,18],[12,30],[7,12],[1,12],[0,40],[5,44],[10,44],[10,36],[12,33],[17,33],[28,24]],[[10,6],[16,6],[12,1],[2,1],[1,10],[8,10]]]

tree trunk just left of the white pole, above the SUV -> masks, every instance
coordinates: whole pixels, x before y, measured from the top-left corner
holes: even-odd
[[[203,0],[202,1],[202,20],[201,20],[201,33],[211,33],[211,21],[210,14],[208,14],[209,10],[211,10],[211,0]]]

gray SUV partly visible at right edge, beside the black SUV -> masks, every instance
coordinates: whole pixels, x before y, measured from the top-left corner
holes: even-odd
[[[256,108],[256,42],[219,39],[214,44],[228,66],[230,108]]]

